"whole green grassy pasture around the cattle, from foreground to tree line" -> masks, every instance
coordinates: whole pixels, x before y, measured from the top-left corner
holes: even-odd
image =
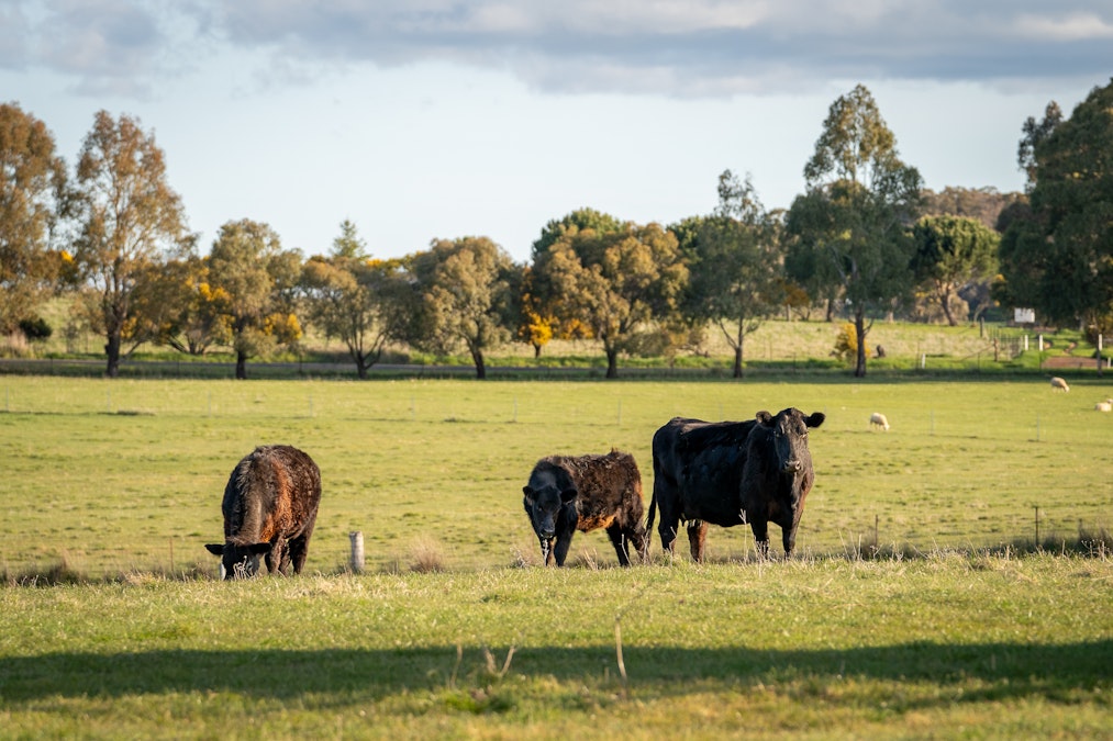
[[[1113,518],[1100,379],[0,384],[0,735],[1113,727],[1113,561],[1071,553]],[[653,562],[620,570],[597,532],[536,567],[538,458],[630,451],[648,496],[671,416],[785,406],[827,414],[799,559],[712,527],[706,565],[654,532]],[[322,470],[308,575],[217,583],[224,484],[275,442]],[[58,575],[81,579],[42,587]]]

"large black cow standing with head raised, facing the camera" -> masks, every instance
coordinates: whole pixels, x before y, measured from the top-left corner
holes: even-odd
[[[786,555],[796,545],[804,500],[815,481],[808,427],[824,422],[788,408],[776,416],[758,412],[746,422],[709,423],[674,418],[653,435],[652,530],[661,510],[661,545],[672,552],[681,521],[687,523],[692,559],[703,560],[708,524],[750,524],[758,553],[769,553],[770,522],[781,526]]]

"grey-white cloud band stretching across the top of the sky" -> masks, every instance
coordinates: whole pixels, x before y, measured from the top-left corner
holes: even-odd
[[[199,56],[254,55],[269,85],[449,61],[540,91],[690,98],[817,80],[1101,79],[1107,0],[14,0],[0,65],[140,96]],[[23,9],[26,12],[21,12]],[[11,32],[8,28],[18,28]],[[26,30],[26,32],[23,32]]]

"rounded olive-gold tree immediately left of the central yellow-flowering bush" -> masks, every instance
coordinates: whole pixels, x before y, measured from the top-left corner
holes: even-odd
[[[463,345],[486,378],[485,353],[511,338],[522,269],[487,237],[435,240],[408,260],[418,292],[412,344],[439,353]]]

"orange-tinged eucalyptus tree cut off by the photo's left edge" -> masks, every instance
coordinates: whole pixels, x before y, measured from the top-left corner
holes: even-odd
[[[31,319],[51,293],[60,253],[51,236],[67,204],[66,162],[46,124],[0,103],[0,333]]]

